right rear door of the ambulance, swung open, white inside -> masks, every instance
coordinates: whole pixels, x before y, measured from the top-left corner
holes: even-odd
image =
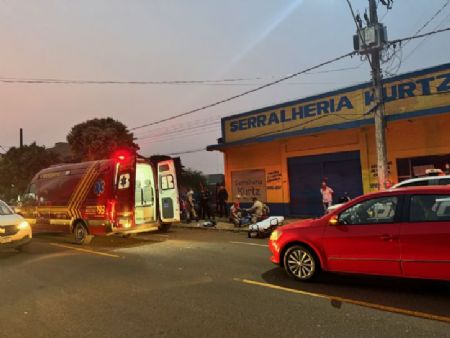
[[[180,201],[173,160],[160,161],[158,166],[159,214],[163,223],[180,221]]]

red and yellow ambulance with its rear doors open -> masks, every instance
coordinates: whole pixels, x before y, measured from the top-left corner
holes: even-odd
[[[71,233],[78,244],[98,235],[165,231],[180,221],[177,167],[167,156],[126,152],[51,166],[34,176],[18,213],[34,234]]]

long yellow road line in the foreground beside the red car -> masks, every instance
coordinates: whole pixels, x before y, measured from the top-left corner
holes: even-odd
[[[330,301],[364,306],[367,308],[386,311],[386,312],[398,313],[398,314],[412,316],[412,317],[418,317],[418,318],[424,318],[424,319],[430,319],[430,320],[436,320],[436,321],[440,321],[440,322],[450,323],[450,317],[434,315],[434,314],[426,313],[426,312],[406,310],[406,309],[402,309],[402,308],[396,308],[396,307],[386,306],[386,305],[381,305],[381,304],[376,304],[376,303],[369,303],[369,302],[364,302],[364,301],[350,299],[350,298],[343,298],[343,297],[337,297],[337,296],[330,296],[330,295],[326,295],[326,294],[290,289],[290,288],[286,288],[283,286],[257,282],[257,281],[253,281],[253,280],[249,280],[249,279],[234,278],[234,280],[237,282],[244,283],[244,284],[257,285],[257,286],[262,286],[262,287],[266,287],[266,288],[270,288],[270,289],[295,293],[295,294],[304,295],[304,296],[322,298],[322,299],[327,299]]]

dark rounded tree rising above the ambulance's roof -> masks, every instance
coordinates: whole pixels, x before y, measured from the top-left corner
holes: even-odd
[[[109,158],[118,149],[136,152],[139,146],[133,140],[133,133],[110,117],[77,124],[67,135],[67,142],[79,161]]]

